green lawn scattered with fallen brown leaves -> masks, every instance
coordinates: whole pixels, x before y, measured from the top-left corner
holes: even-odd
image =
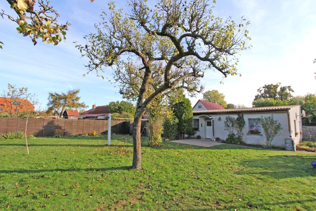
[[[132,170],[131,136],[105,139],[1,140],[0,210],[316,209],[316,154],[144,138]]]

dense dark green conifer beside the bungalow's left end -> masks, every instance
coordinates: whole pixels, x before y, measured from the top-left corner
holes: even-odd
[[[191,101],[183,96],[172,108],[174,115],[178,119],[178,138],[183,139],[185,134],[191,134],[193,131]]]

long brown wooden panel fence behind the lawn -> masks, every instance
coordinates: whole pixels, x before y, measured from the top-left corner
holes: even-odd
[[[70,119],[28,119],[27,136],[53,136],[55,129],[64,129],[65,134],[107,132],[107,120],[70,120]],[[142,130],[146,122],[142,122]],[[0,117],[0,134],[23,131],[25,132],[26,118]],[[133,131],[133,122],[111,121],[111,133],[129,134]]]

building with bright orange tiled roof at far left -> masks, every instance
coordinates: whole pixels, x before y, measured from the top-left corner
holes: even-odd
[[[35,107],[28,100],[0,97],[0,112],[12,114],[34,110]]]

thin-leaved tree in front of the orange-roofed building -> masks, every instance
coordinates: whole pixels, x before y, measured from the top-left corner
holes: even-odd
[[[0,94],[1,102],[4,105],[2,116],[6,117],[35,117],[33,111],[35,105],[39,104],[39,100],[35,94],[29,93],[26,87],[18,88],[15,85],[8,84],[8,89],[3,90]]]

